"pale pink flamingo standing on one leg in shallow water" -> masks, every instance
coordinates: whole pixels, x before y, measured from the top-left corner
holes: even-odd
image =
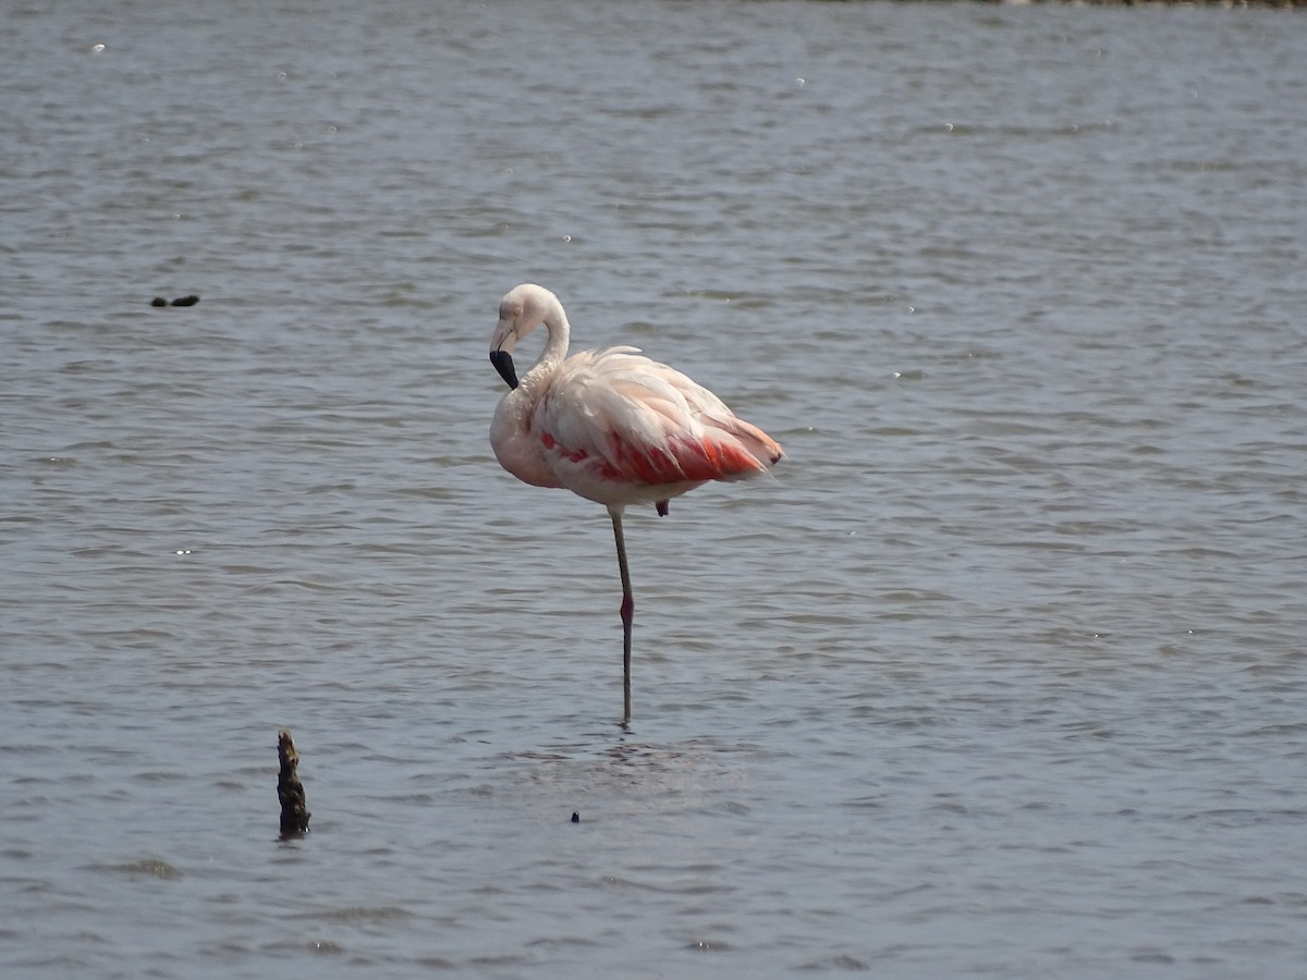
[[[540,324],[549,338],[521,376],[512,351]],[[622,710],[631,719],[631,623],[635,598],[622,512],[652,503],[665,516],[673,497],[710,480],[766,473],[780,443],[721,399],[637,348],[567,357],[571,327],[558,297],[525,282],[499,303],[490,363],[511,389],[495,409],[490,444],[506,470],[532,486],[565,487],[608,508],[622,578]]]

